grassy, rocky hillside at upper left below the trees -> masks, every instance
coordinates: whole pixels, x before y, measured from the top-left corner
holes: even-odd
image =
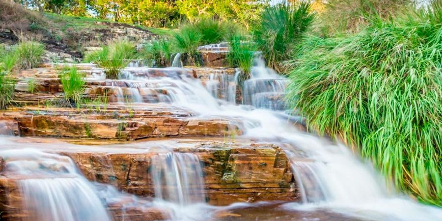
[[[91,47],[100,47],[115,38],[128,38],[143,43],[159,36],[170,35],[171,30],[115,23],[85,17],[52,13],[38,13],[20,4],[0,0],[0,43],[12,45],[23,40],[45,44],[47,56],[80,58]]]

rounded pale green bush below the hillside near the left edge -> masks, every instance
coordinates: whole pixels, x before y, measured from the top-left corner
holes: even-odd
[[[35,41],[22,41],[14,46],[13,53],[17,56],[16,66],[19,69],[30,69],[40,64],[45,47]]]

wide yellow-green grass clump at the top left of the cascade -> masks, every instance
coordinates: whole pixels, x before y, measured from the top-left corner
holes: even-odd
[[[86,62],[94,61],[98,66],[105,69],[106,77],[118,79],[120,70],[125,68],[131,59],[137,58],[135,45],[128,40],[111,41],[101,51],[92,52],[85,56]]]

